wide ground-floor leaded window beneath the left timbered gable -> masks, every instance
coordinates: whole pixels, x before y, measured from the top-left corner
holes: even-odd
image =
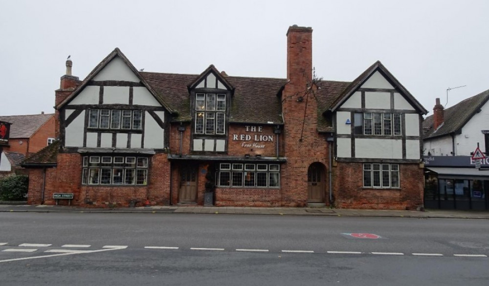
[[[148,158],[133,156],[83,157],[82,184],[146,185]]]

